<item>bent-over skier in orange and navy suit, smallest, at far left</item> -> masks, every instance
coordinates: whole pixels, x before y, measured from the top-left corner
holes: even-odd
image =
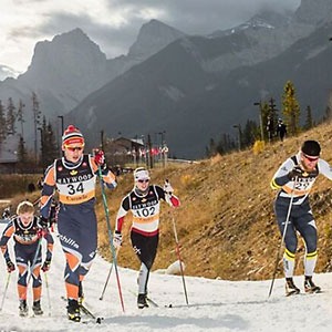
[[[35,315],[43,314],[41,309],[42,281],[40,269],[46,272],[50,269],[53,250],[53,238],[45,228],[43,220],[34,216],[34,207],[30,201],[22,201],[17,208],[14,216],[7,225],[0,239],[0,247],[7,263],[9,273],[15,270],[9,250],[8,241],[11,237],[14,239],[15,262],[19,269],[18,293],[20,300],[20,315],[28,315],[27,304],[28,291],[28,268],[32,277],[33,305],[32,310]],[[42,264],[41,240],[46,240],[46,253]],[[42,264],[42,268],[41,268]],[[28,279],[28,280],[27,280]]]

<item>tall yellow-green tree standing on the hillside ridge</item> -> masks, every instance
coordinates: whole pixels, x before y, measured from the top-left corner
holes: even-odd
[[[295,97],[295,89],[291,81],[288,81],[282,95],[282,114],[288,127],[289,135],[297,135],[300,132],[300,105]]]

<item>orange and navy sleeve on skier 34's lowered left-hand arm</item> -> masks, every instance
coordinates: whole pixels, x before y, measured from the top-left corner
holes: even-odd
[[[52,198],[55,191],[55,162],[45,172],[44,184],[40,198],[40,212],[49,219],[51,212]]]

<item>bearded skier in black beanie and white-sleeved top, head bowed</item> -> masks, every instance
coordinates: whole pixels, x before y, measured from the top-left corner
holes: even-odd
[[[319,292],[321,290],[312,281],[318,259],[318,234],[309,203],[309,193],[319,174],[332,179],[332,168],[320,158],[320,153],[321,147],[318,142],[305,141],[299,153],[288,158],[271,180],[271,187],[279,190],[274,200],[274,212],[279,230],[281,235],[284,234],[283,270],[287,295],[300,292],[292,278],[298,246],[297,231],[305,243],[304,291]],[[289,218],[287,218],[288,215]]]

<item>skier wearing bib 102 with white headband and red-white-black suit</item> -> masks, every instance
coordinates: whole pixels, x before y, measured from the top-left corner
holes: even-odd
[[[174,190],[168,181],[165,183],[164,188],[149,185],[149,173],[144,167],[134,170],[134,189],[123,198],[117,211],[113,245],[117,249],[121,247],[124,217],[132,211],[131,240],[134,252],[141,261],[137,307],[143,309],[148,307],[147,281],[158,247],[159,200],[163,199],[170,206],[178,207],[179,199],[173,195]]]

